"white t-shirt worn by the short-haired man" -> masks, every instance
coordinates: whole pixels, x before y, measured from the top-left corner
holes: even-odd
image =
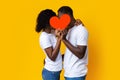
[[[67,34],[67,40],[73,45],[87,46],[88,32],[84,26],[74,26]],[[87,74],[88,51],[86,49],[85,56],[79,59],[68,48],[64,55],[65,77],[81,77]]]

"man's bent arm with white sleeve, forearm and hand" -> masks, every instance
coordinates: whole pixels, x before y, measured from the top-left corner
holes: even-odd
[[[80,32],[77,34],[77,47],[72,45],[67,39],[66,35],[68,33],[68,30],[62,31],[62,41],[66,45],[66,47],[79,59],[83,58],[85,55],[85,51],[87,48],[87,39],[88,39],[88,33],[85,29],[83,29],[83,32]]]

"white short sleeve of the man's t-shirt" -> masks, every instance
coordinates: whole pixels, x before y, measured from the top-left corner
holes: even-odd
[[[77,45],[87,45],[88,43],[88,31],[82,28],[77,34]]]

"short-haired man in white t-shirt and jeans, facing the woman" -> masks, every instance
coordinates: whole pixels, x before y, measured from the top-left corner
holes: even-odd
[[[68,14],[71,22],[68,28],[62,31],[63,43],[67,49],[64,55],[64,76],[66,80],[85,80],[88,63],[88,31],[81,23],[75,26],[73,11],[68,6],[62,6],[58,10],[58,16]]]

